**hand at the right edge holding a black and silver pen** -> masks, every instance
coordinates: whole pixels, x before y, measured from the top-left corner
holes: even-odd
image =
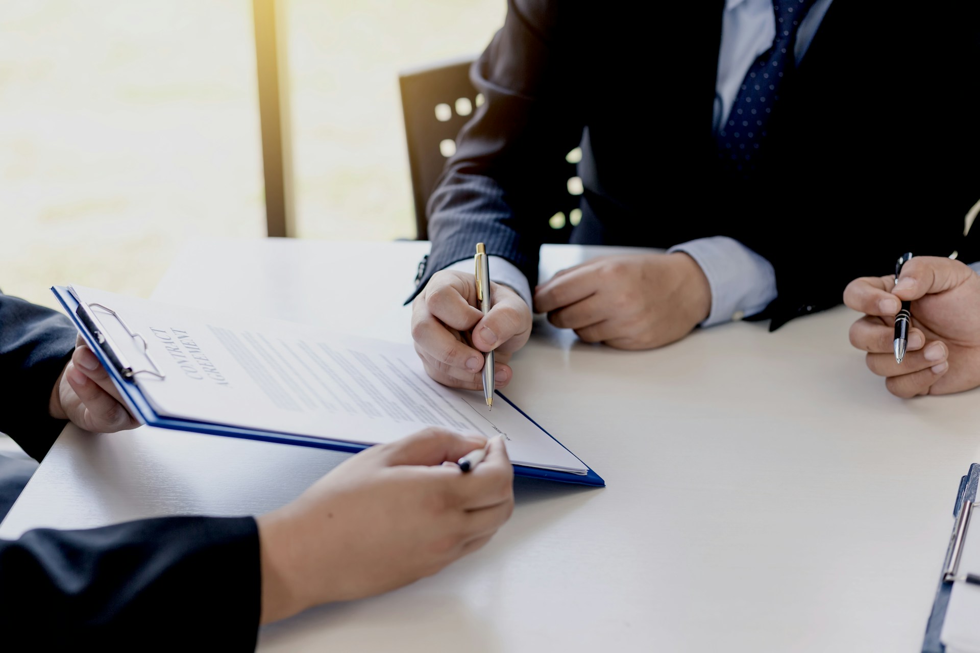
[[[907,352],[896,362],[894,321],[911,302]],[[868,368],[893,395],[947,395],[980,386],[980,276],[945,257],[914,257],[893,276],[861,277],[844,303],[865,313],[851,344],[867,351]]]

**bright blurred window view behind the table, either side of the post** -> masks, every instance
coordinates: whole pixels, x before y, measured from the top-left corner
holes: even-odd
[[[399,70],[479,53],[504,0],[290,0],[301,238],[415,236]],[[251,0],[0,2],[0,289],[149,296],[179,245],[266,235]]]

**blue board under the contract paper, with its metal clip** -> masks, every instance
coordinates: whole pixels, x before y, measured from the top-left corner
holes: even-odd
[[[267,443],[299,444],[301,446],[314,446],[322,449],[348,451],[351,453],[357,453],[358,451],[367,449],[370,446],[370,444],[347,443],[337,440],[326,440],[323,438],[311,438],[309,436],[295,436],[287,433],[276,433],[260,429],[246,429],[237,426],[227,426],[224,424],[213,424],[209,422],[197,422],[194,420],[162,417],[157,414],[156,410],[153,409],[153,406],[150,405],[150,402],[145,396],[143,396],[142,391],[139,390],[139,387],[132,380],[132,375],[134,375],[137,371],[149,370],[133,371],[131,368],[121,365],[121,361],[116,358],[116,355],[112,352],[112,348],[103,346],[103,337],[101,332],[98,331],[97,324],[93,324],[91,319],[85,317],[86,310],[84,308],[81,311],[78,310],[78,300],[75,299],[71,290],[65,286],[53,286],[51,288],[51,292],[55,294],[58,302],[65,307],[65,311],[74,322],[74,325],[78,329],[78,333],[81,334],[82,339],[85,341],[88,347],[95,352],[95,355],[99,358],[99,362],[101,362],[102,366],[109,372],[109,377],[112,379],[113,384],[119,389],[120,395],[123,396],[123,400],[126,407],[129,409],[129,412],[148,426],[160,429],[172,429],[174,431],[203,433],[212,436],[244,438],[245,440],[260,440]],[[103,306],[103,308],[111,311],[111,308],[108,306]],[[112,314],[115,315],[115,312],[112,312]],[[119,316],[117,315],[117,318],[118,317]],[[128,331],[128,327],[124,322],[122,323]],[[129,373],[128,376],[125,374],[126,372]],[[153,372],[150,371],[149,373],[152,374]],[[521,415],[526,417],[531,424],[541,429],[541,431],[547,434],[549,438],[559,444],[562,444],[555,438],[555,436],[542,429],[541,425],[532,420],[527,413],[518,408],[514,401],[501,395],[499,392],[497,395],[501,396],[505,401],[514,406]],[[562,446],[567,450],[567,447],[564,446],[564,444],[562,444]],[[588,474],[580,475],[572,474],[570,472],[556,472],[547,469],[539,469],[537,467],[515,465],[514,473],[515,476],[524,476],[532,479],[544,479],[546,481],[554,481],[557,483],[570,483],[582,486],[599,487],[604,487],[606,485],[606,482],[602,479],[602,477],[592,471],[591,468],[586,466],[586,469],[589,470]]]

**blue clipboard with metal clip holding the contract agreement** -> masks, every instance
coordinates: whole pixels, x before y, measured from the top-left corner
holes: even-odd
[[[338,440],[328,440],[324,438],[314,438],[310,436],[299,436],[287,433],[278,433],[260,429],[248,429],[225,424],[215,424],[210,422],[198,422],[187,419],[177,419],[161,416],[154,410],[149,400],[143,396],[139,386],[135,383],[138,375],[145,374],[157,379],[165,379],[161,367],[157,365],[152,354],[148,350],[146,339],[142,334],[134,331],[126,324],[123,316],[111,306],[101,303],[81,303],[70,287],[53,286],[51,292],[54,293],[58,302],[65,308],[68,316],[72,319],[78,332],[81,334],[85,344],[95,353],[99,362],[109,373],[113,385],[120,391],[123,402],[129,412],[139,419],[143,424],[160,429],[171,429],[173,431],[187,431],[191,433],[201,433],[212,436],[224,436],[229,438],[242,438],[245,440],[258,440],[267,443],[297,444],[301,446],[313,446],[316,448],[331,449],[335,451],[347,451],[357,453],[369,448],[370,444],[349,443]],[[145,365],[133,365],[123,351],[113,342],[108,332],[102,327],[103,319],[118,320],[120,325],[139,346],[146,356]],[[541,428],[537,422],[532,420],[527,413],[521,410],[507,396],[499,391],[497,395],[510,403],[521,415],[531,424],[541,429],[548,437],[559,443],[565,450],[564,444],[557,438]],[[569,451],[570,452],[570,451]],[[576,456],[577,457],[577,456]],[[584,464],[584,463],[583,463]],[[526,465],[514,465],[515,476],[522,476],[532,479],[542,479],[556,483],[567,483],[573,485],[605,487],[606,482],[586,465],[588,472],[584,475],[573,474],[571,472],[560,472],[555,470],[541,469],[538,467],[528,467]]]

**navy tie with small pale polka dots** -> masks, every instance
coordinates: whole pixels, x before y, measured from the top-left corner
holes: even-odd
[[[765,125],[779,104],[779,88],[796,70],[793,46],[797,29],[813,0],[773,0],[776,38],[749,68],[728,119],[718,130],[718,159],[736,177],[747,177],[756,167]],[[764,147],[764,146],[763,146]]]

